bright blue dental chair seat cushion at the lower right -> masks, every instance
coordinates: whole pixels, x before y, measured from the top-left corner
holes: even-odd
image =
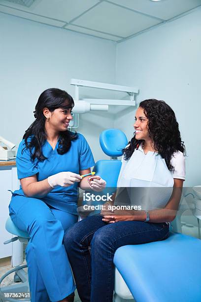
[[[114,264],[137,302],[201,302],[201,240],[170,233],[164,241],[117,249]]]

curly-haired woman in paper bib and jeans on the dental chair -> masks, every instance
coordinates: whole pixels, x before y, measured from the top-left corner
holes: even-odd
[[[112,210],[107,203],[100,215],[76,223],[64,236],[82,302],[112,302],[115,251],[128,244],[166,239],[168,222],[179,206],[185,147],[174,112],[164,101],[145,100],[135,113],[134,130],[124,149],[117,186],[135,187],[142,210]],[[148,188],[153,189],[152,196],[141,198],[139,193]]]

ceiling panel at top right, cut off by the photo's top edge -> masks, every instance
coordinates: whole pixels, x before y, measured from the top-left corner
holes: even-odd
[[[201,5],[201,0],[110,0],[113,3],[168,20]]]

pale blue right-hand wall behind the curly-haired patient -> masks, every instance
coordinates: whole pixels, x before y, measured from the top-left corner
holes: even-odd
[[[201,9],[117,45],[116,83],[138,86],[137,102],[172,107],[188,157],[185,186],[201,185]],[[135,110],[115,126],[133,136]]]

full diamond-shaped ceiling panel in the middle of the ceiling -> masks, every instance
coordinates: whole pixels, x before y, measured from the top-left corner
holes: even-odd
[[[160,21],[156,19],[107,2],[101,2],[72,22],[78,26],[125,38],[158,23]]]

